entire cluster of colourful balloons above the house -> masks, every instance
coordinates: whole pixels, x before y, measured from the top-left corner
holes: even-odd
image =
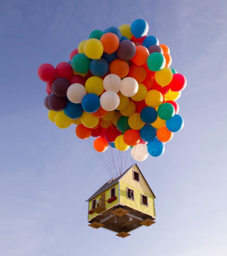
[[[98,152],[131,147],[136,161],[162,155],[184,125],[176,100],[186,79],[170,68],[168,46],[147,33],[142,19],[94,30],[69,62],[42,64],[38,76],[47,83],[49,119],[60,128],[76,124],[80,139],[97,137]]]

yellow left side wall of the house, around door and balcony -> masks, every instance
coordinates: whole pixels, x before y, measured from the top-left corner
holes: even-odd
[[[107,200],[110,198],[110,190],[111,188],[115,187],[115,195],[117,197],[117,199],[111,203],[108,203]],[[101,197],[101,195],[103,193],[106,193],[106,209],[110,209],[112,208],[113,206],[119,204],[119,182],[117,182],[116,184],[112,185],[111,187],[109,187],[107,190],[103,191],[102,193],[100,193],[99,195],[97,195],[96,197],[92,198],[90,201],[89,201],[89,208],[88,208],[88,211],[91,210],[92,208],[92,201],[96,198],[96,201],[99,200],[99,198]],[[99,215],[99,213],[92,213],[92,214],[88,214],[88,221],[90,221],[91,219],[93,219],[94,217],[96,217],[97,215]]]

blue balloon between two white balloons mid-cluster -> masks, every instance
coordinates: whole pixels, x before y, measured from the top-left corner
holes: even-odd
[[[96,94],[89,93],[81,102],[82,108],[88,113],[94,113],[100,108],[100,98]]]

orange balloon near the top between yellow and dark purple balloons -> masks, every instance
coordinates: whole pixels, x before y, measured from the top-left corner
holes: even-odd
[[[108,54],[116,52],[119,47],[119,38],[114,33],[103,34],[100,41],[103,44],[103,51]]]

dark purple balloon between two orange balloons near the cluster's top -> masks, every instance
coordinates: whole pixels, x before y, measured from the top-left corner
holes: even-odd
[[[130,60],[136,54],[136,46],[132,41],[121,41],[116,53],[119,59]]]

